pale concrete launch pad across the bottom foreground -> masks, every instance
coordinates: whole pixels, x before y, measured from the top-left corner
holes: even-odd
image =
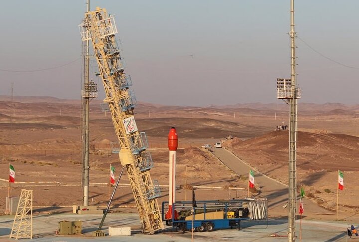
[[[0,241],[14,242],[9,239],[14,216],[0,216]],[[90,237],[95,231],[102,216],[99,215],[80,215],[80,214],[51,214],[51,215],[34,215],[33,216],[33,239],[21,239],[21,242],[191,242],[190,232],[172,231],[166,227],[164,231],[147,235],[141,233],[141,223],[139,215],[135,213],[113,213],[108,214],[103,226],[104,231],[108,227],[126,227],[131,226],[131,236],[105,236]],[[58,229],[58,222],[82,221],[82,235],[59,236],[55,235]],[[354,223],[354,224],[353,224]],[[346,242],[355,241],[357,237],[347,238],[348,224],[355,225],[358,230],[358,221],[318,221],[302,220],[302,241],[303,242]],[[268,221],[243,221],[241,230],[227,229],[215,230],[213,232],[195,232],[195,242],[285,242],[288,231],[287,218],[271,218]],[[273,237],[271,235],[277,235]],[[300,221],[296,221],[296,242],[300,241]],[[359,238],[359,237],[358,237]],[[358,241],[358,240],[357,240]],[[358,241],[359,242],[359,241]]]

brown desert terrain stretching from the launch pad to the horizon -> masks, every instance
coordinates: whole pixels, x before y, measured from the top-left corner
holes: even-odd
[[[101,110],[100,100],[91,101],[90,111],[90,205],[106,206],[109,199],[109,166],[121,169],[110,143],[116,141],[110,115]],[[5,212],[8,164],[16,170],[11,196],[21,188],[34,190],[37,212],[72,210],[82,204],[81,189],[81,103],[52,97],[0,96],[0,213]],[[359,180],[359,130],[355,119],[359,105],[298,105],[297,185],[303,185],[307,199],[336,209],[337,170],[344,171],[345,189],[339,192],[342,219],[358,216],[356,183]],[[358,116],[359,117],[359,116]],[[177,152],[177,199],[191,199],[190,186],[198,189],[196,198],[244,198],[247,177],[238,176],[223,165],[203,144],[222,140],[237,157],[282,183],[288,183],[288,131],[275,131],[288,125],[288,105],[236,104],[227,106],[182,107],[140,103],[135,108],[139,130],[145,131],[154,160],[151,177],[159,181],[161,198],[168,199],[167,134],[175,126],[179,134]],[[226,140],[227,135],[233,139]],[[126,175],[115,194],[114,209],[136,211]],[[185,183],[188,186],[184,186]],[[220,187],[220,189],[218,189]],[[261,184],[256,184],[260,190]],[[260,194],[253,193],[253,196]],[[287,210],[283,209],[283,216]],[[271,214],[269,213],[269,216]]]

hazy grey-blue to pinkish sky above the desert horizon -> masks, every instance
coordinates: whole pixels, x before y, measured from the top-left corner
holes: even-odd
[[[1,1],[0,95],[13,83],[14,95],[80,99],[85,3]],[[96,6],[115,17],[137,101],[282,102],[275,89],[290,77],[290,0],[90,0]],[[359,103],[358,9],[358,0],[295,1],[299,102]],[[94,59],[90,72],[103,99]]]

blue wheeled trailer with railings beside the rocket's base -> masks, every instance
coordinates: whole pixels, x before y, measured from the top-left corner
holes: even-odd
[[[166,219],[168,202],[162,202],[162,219],[166,225],[174,230],[193,230],[204,232],[217,229],[240,230],[241,220],[265,220],[268,218],[267,199],[233,199],[233,200],[205,200],[196,201],[197,207],[192,207],[192,201],[175,202],[172,206],[172,215],[175,210],[178,216]]]

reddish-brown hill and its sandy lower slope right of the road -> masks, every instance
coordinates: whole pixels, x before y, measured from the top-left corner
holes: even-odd
[[[274,131],[245,141],[226,142],[229,150],[262,172],[288,183],[288,131]],[[344,172],[342,204],[357,208],[359,179],[359,137],[346,134],[298,132],[297,184],[305,186],[307,195],[326,208],[335,209],[338,172]]]

